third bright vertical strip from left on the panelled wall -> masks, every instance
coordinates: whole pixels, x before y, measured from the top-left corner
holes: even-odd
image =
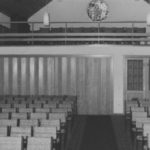
[[[28,77],[29,78],[29,77]],[[21,95],[26,95],[27,87],[27,59],[21,58]]]

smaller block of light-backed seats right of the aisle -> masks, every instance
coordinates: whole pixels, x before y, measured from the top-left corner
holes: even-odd
[[[129,125],[133,150],[150,149],[150,100],[125,101],[126,125]]]

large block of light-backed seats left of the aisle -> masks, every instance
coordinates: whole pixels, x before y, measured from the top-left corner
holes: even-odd
[[[76,96],[0,96],[1,150],[64,150]]]

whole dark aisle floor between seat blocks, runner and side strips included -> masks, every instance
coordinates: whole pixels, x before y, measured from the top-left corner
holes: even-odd
[[[66,150],[132,150],[123,115],[77,116]]]

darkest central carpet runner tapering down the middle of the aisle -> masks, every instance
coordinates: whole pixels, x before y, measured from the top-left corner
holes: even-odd
[[[88,116],[80,150],[118,150],[110,116]]]

